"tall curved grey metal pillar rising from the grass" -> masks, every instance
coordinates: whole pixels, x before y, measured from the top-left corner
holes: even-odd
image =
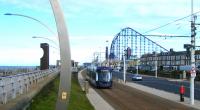
[[[67,110],[71,88],[71,53],[67,27],[58,0],[49,0],[53,9],[60,45],[60,85],[56,110]]]

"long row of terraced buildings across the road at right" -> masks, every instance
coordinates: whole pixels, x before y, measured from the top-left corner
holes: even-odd
[[[158,69],[179,70],[180,67],[189,67],[191,65],[190,52],[175,52],[173,49],[170,49],[169,52],[144,54],[140,58],[140,66],[144,70],[154,69],[156,62]],[[197,66],[200,64],[200,50],[195,52],[195,62]]]

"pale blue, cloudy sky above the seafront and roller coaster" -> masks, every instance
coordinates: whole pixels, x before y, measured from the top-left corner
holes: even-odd
[[[143,34],[191,14],[191,0],[60,0],[60,4],[69,34],[71,59],[80,63],[91,62],[94,52],[104,52],[123,28],[130,27]],[[194,0],[194,12],[198,11],[200,1]],[[33,17],[53,33],[34,20],[5,13]],[[145,34],[190,36],[190,21],[187,17]],[[50,45],[50,64],[59,59],[56,23],[48,0],[0,0],[0,30],[0,66],[39,65],[43,55],[40,43]],[[149,38],[175,51],[184,50],[183,44],[190,43],[189,37]]]

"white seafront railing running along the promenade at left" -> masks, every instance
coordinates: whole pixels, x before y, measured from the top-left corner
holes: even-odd
[[[43,79],[59,72],[58,69],[49,69],[0,77],[0,103],[6,104],[9,100],[27,93],[33,84],[37,86]]]

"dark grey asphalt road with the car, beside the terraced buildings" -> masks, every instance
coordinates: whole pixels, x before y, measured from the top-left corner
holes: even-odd
[[[121,79],[123,78],[122,75],[123,75],[122,72],[113,72],[113,76],[119,77]],[[179,94],[179,87],[181,85],[184,85],[186,89],[185,96],[190,97],[190,84],[188,81],[178,81],[178,80],[167,79],[167,78],[155,78],[153,76],[146,76],[146,75],[143,75],[142,81],[132,81],[131,77],[132,77],[132,74],[127,74],[126,75],[127,81],[148,86],[151,88],[156,88],[159,90],[164,90],[164,91],[175,93],[175,94]],[[199,83],[195,83],[194,93],[195,93],[194,94],[195,99],[200,100],[200,84]]]

